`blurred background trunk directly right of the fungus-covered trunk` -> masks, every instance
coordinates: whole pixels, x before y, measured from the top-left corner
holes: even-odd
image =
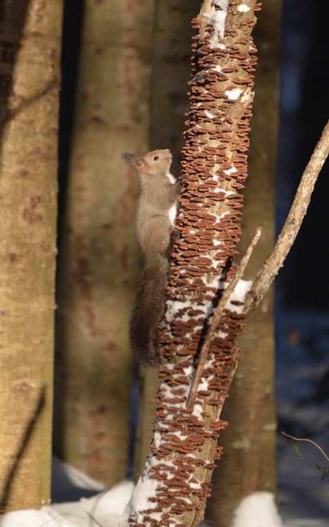
[[[246,279],[256,277],[273,248],[279,30],[280,2],[267,1],[254,34],[258,66],[240,248],[247,245],[256,226],[264,230],[248,264]],[[212,477],[214,489],[206,509],[206,518],[220,527],[232,524],[234,510],[243,497],[256,491],[276,491],[272,288],[248,318],[238,344],[241,359],[223,409],[223,419],[229,423],[221,436],[223,457]]]

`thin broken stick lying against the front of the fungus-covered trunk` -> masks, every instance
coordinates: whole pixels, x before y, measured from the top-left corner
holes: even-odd
[[[212,342],[212,338],[215,334],[215,331],[219,325],[219,320],[221,319],[221,315],[223,314],[223,310],[225,309],[226,303],[228,299],[230,298],[232,292],[236,288],[236,284],[239,282],[241,277],[243,277],[243,273],[245,272],[245,268],[247,266],[247,263],[249,261],[250,256],[252,255],[252,251],[254,250],[254,246],[256,246],[256,243],[258,242],[258,239],[260,238],[260,235],[262,233],[263,229],[262,227],[257,227],[256,231],[254,232],[254,235],[252,239],[250,240],[245,252],[243,253],[243,257],[241,258],[239,267],[236,270],[236,273],[234,274],[234,277],[228,284],[228,287],[223,290],[223,295],[221,296],[221,299],[215,308],[214,314],[212,316],[212,321],[210,323],[210,326],[208,327],[208,331],[206,333],[206,338],[204,340],[204,344],[202,346],[202,349],[199,353],[199,360],[197,362],[197,368],[195,371],[195,376],[193,378],[193,382],[191,385],[190,393],[188,394],[188,399],[186,403],[187,410],[192,410],[194,403],[195,403],[195,397],[197,395],[197,388],[199,386],[200,379],[202,377],[202,373],[204,371],[204,365],[206,364],[208,349],[210,347],[210,344]]]

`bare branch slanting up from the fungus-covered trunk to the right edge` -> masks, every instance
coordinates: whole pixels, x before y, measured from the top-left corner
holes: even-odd
[[[298,186],[295,199],[284,223],[280,236],[276,242],[273,252],[263,264],[257,274],[251,290],[247,293],[245,301],[245,314],[252,312],[260,303],[263,296],[269,289],[280,268],[283,266],[295,237],[307,211],[317,176],[329,154],[329,121],[326,124],[321,138],[317,143],[310,161],[304,170],[300,185]]]

